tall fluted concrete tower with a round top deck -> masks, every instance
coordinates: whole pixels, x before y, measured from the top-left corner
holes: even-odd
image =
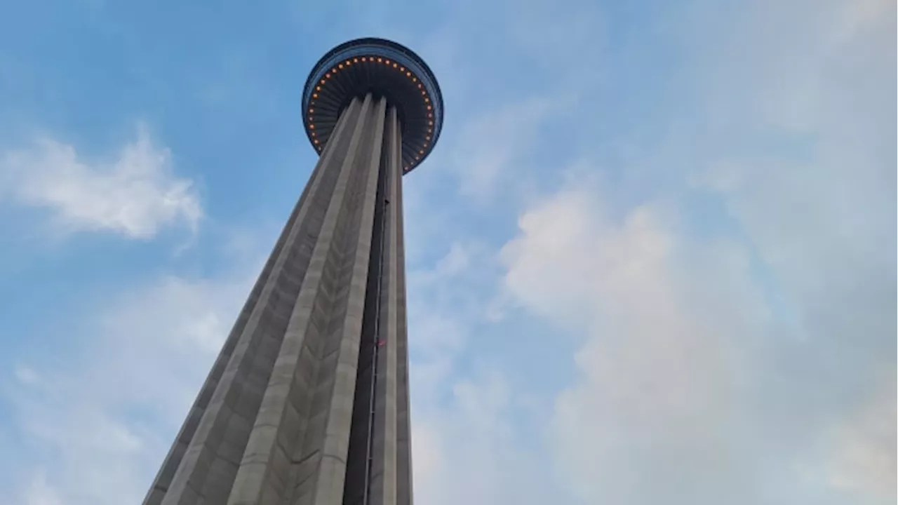
[[[402,175],[443,99],[418,55],[352,40],[313,67],[320,158],[145,505],[410,505]]]

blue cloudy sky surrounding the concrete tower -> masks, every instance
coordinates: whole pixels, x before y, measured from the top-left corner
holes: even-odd
[[[445,99],[419,505],[898,503],[895,0],[0,4],[0,502],[142,501],[364,36]]]

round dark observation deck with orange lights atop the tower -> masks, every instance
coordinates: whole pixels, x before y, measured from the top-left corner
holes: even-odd
[[[390,40],[350,40],[315,64],[303,91],[306,135],[321,153],[340,111],[367,92],[386,96],[399,111],[401,162],[408,172],[436,145],[443,127],[443,95],[424,60]]]

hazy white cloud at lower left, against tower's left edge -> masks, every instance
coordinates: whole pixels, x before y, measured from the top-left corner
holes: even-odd
[[[23,459],[34,467],[20,499],[139,503],[250,282],[165,277],[113,297],[66,366],[19,368],[9,400],[20,441],[40,455]]]

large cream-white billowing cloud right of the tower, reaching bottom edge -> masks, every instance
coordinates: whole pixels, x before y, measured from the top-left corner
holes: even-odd
[[[747,261],[728,244],[683,243],[665,208],[616,222],[600,194],[553,196],[503,251],[518,301],[588,331],[580,379],[555,406],[560,471],[589,503],[705,503],[747,488],[741,341],[764,317]]]

